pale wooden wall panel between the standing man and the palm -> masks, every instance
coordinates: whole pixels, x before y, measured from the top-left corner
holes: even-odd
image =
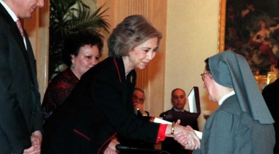
[[[23,25],[35,55],[39,92],[42,100],[48,84],[49,0],[45,0],[45,6],[36,9],[31,18],[24,19]]]

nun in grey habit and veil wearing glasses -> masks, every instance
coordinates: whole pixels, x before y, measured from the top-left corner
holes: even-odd
[[[203,86],[219,107],[206,120],[201,149],[193,154],[273,154],[274,120],[246,59],[224,51],[205,62]]]

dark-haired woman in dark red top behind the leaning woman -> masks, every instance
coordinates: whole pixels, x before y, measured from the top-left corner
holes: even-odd
[[[88,30],[79,30],[65,39],[63,59],[68,68],[55,76],[47,86],[42,103],[44,121],[70,95],[82,74],[99,62],[102,49],[101,37]]]

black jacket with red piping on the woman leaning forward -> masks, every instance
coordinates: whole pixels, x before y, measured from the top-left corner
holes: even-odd
[[[42,153],[97,153],[116,132],[155,143],[159,124],[134,114],[135,79],[135,70],[125,77],[122,58],[89,69],[46,121]]]

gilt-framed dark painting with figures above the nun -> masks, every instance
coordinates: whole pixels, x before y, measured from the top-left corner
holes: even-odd
[[[267,75],[279,58],[278,0],[220,0],[218,50],[243,55],[254,75]]]

